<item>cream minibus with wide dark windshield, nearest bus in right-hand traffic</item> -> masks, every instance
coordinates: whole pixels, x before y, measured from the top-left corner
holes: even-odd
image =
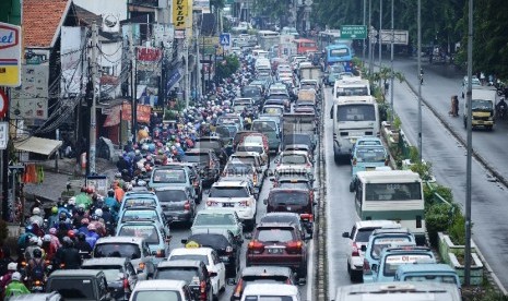
[[[425,201],[422,179],[411,170],[358,171],[356,213],[362,220],[389,219],[425,243]]]

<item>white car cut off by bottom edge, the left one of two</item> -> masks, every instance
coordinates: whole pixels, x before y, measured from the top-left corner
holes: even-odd
[[[184,280],[150,280],[140,282],[129,301],[179,300],[191,301],[192,291]]]

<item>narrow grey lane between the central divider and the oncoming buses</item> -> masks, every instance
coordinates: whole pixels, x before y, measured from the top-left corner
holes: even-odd
[[[328,288],[330,298],[334,298],[336,287],[352,284],[347,274],[347,241],[342,238],[342,232],[351,231],[357,215],[353,194],[350,193],[351,167],[347,164],[336,165],[333,160],[333,124],[330,115],[327,113],[333,100],[331,88],[326,88],[324,92]]]

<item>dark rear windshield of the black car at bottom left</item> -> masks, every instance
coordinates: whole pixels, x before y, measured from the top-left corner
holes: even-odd
[[[62,300],[98,300],[92,279],[59,277],[52,279],[49,289],[58,291],[63,298]]]

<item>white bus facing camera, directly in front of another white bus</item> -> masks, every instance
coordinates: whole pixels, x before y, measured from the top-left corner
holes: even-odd
[[[373,96],[342,96],[330,110],[335,162],[348,159],[356,140],[379,136],[378,104]]]

